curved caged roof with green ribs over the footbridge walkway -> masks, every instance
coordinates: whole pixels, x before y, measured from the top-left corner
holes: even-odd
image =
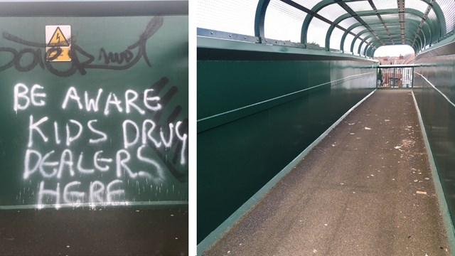
[[[454,0],[198,0],[198,35],[373,57],[380,46],[416,53],[453,35]],[[232,36],[236,33],[236,36]],[[242,35],[242,36],[240,36]]]

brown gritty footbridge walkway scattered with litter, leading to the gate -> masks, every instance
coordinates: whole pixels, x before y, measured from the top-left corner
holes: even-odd
[[[204,255],[450,255],[411,91],[376,91]]]

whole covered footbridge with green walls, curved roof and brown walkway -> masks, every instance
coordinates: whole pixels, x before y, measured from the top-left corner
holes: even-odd
[[[198,255],[454,252],[454,1],[197,8]]]

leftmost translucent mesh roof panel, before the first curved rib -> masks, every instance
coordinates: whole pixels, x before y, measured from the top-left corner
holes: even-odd
[[[196,26],[255,36],[255,14],[259,0],[198,0]]]

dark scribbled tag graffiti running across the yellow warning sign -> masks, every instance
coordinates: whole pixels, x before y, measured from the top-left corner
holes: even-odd
[[[72,44],[69,53],[71,58],[71,65],[68,70],[58,70],[54,68],[53,63],[44,61],[46,59],[46,55],[55,56],[53,58],[56,58],[58,55],[60,55],[62,50],[61,48],[54,47],[51,50],[48,50],[47,53],[43,53],[42,48],[46,47],[45,43],[26,41],[23,38],[12,35],[11,33],[4,32],[2,33],[2,36],[6,40],[18,43],[21,46],[29,46],[33,48],[16,50],[11,47],[0,47],[0,53],[11,53],[12,55],[12,58],[8,63],[0,66],[0,72],[12,68],[13,66],[18,71],[27,72],[33,70],[33,68],[36,68],[36,65],[39,65],[42,69],[46,68],[50,71],[50,73],[53,73],[54,75],[68,77],[70,75],[74,75],[77,72],[79,72],[81,75],[85,75],[87,74],[88,69],[126,70],[134,66],[141,59],[143,59],[145,63],[151,67],[151,62],[146,53],[146,43],[149,38],[151,38],[151,36],[156,33],[156,31],[159,31],[159,28],[161,28],[163,22],[164,18],[161,16],[151,18],[144,30],[144,33],[141,33],[139,36],[139,40],[133,43],[131,46],[128,46],[126,50],[122,51],[122,53],[106,53],[106,50],[104,48],[101,48],[98,60],[104,59],[103,64],[94,63],[95,56],[87,53],[87,51],[78,46],[74,37],[70,38]],[[137,51],[136,55],[134,55],[133,50]],[[32,61],[26,65],[21,65],[21,59],[23,58],[23,55],[26,54],[32,55]]]

